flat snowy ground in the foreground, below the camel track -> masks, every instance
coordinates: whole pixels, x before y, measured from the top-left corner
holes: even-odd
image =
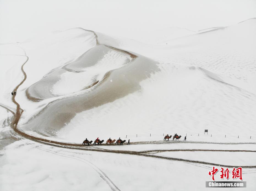
[[[176,148],[183,149],[183,145],[177,145]],[[121,147],[129,149],[130,146]],[[205,148],[216,149],[216,146]],[[237,149],[233,146],[227,148]],[[205,181],[211,181],[208,175],[212,168],[210,165],[62,149],[26,140],[7,146],[1,154],[1,190],[94,190],[96,187],[104,190],[205,190]],[[165,152],[156,155],[169,156]],[[255,153],[243,152],[231,155],[224,152],[171,152],[170,156],[174,155],[190,159],[200,157],[201,160],[234,165],[255,165],[256,161]],[[247,181],[247,188],[242,190],[255,189],[255,173],[256,169],[243,169],[243,180]],[[218,176],[215,179],[221,181]]]

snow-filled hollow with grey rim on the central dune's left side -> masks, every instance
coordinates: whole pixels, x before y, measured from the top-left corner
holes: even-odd
[[[128,64],[132,57],[104,45],[96,45],[78,59],[52,70],[26,90],[31,101],[68,95],[91,88],[110,71]],[[42,91],[41,87],[45,87]]]

